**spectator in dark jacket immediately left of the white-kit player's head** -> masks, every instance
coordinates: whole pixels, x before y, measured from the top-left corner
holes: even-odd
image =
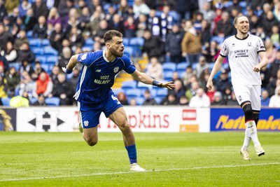
[[[217,22],[216,29],[214,31],[215,36],[226,38],[234,33],[232,21],[228,12],[222,13],[222,18]]]

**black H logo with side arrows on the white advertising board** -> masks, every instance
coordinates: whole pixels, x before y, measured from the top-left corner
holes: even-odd
[[[36,132],[57,132],[57,127],[64,123],[63,120],[57,118],[59,111],[34,111],[36,118],[28,123],[36,127]]]

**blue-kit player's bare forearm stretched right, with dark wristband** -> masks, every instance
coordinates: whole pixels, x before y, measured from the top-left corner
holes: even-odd
[[[148,84],[148,85],[155,85],[155,86],[158,86],[161,88],[168,88],[169,90],[172,90],[172,88],[174,88],[174,83],[172,81],[167,82],[167,83],[160,83],[158,81],[155,81],[155,79],[151,78],[151,76],[148,76],[145,73],[141,73],[138,70],[135,70],[132,73],[132,76],[135,80]]]

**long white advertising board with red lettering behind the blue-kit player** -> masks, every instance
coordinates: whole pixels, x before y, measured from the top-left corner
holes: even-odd
[[[182,106],[125,106],[133,132],[209,132],[210,109]],[[73,132],[78,129],[76,107],[18,108],[19,132]],[[104,114],[99,132],[120,132]]]

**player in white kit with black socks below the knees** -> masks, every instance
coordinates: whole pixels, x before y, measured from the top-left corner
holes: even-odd
[[[238,103],[245,116],[245,138],[240,154],[244,160],[251,160],[248,146],[251,139],[258,156],[264,155],[265,151],[260,146],[257,134],[257,123],[260,113],[260,69],[267,65],[267,54],[262,40],[258,36],[248,34],[249,21],[244,15],[234,20],[237,35],[225,39],[218,59],[212,69],[207,82],[209,90],[213,87],[213,78],[221,68],[223,60],[228,56],[232,87],[235,91]],[[259,58],[260,57],[260,61]]]

